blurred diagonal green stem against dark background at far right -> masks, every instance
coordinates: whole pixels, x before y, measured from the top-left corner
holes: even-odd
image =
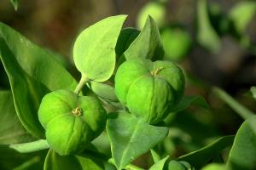
[[[221,88],[213,88],[213,93],[218,96],[219,99],[222,99],[227,105],[230,105],[230,107],[238,113],[243,119],[247,119],[250,116],[253,116],[253,111],[248,110],[245,106],[241,105],[239,102],[236,101],[236,99],[233,99],[230,94],[227,94],[223,89]]]

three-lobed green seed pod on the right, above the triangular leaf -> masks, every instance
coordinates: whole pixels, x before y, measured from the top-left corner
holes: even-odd
[[[125,61],[115,76],[115,93],[120,102],[150,124],[163,121],[182,98],[183,90],[183,71],[170,61]]]

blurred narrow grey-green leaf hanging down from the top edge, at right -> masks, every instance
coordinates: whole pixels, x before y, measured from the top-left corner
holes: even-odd
[[[221,42],[209,20],[207,2],[207,0],[197,1],[197,41],[202,47],[207,48],[212,53],[217,53]]]

